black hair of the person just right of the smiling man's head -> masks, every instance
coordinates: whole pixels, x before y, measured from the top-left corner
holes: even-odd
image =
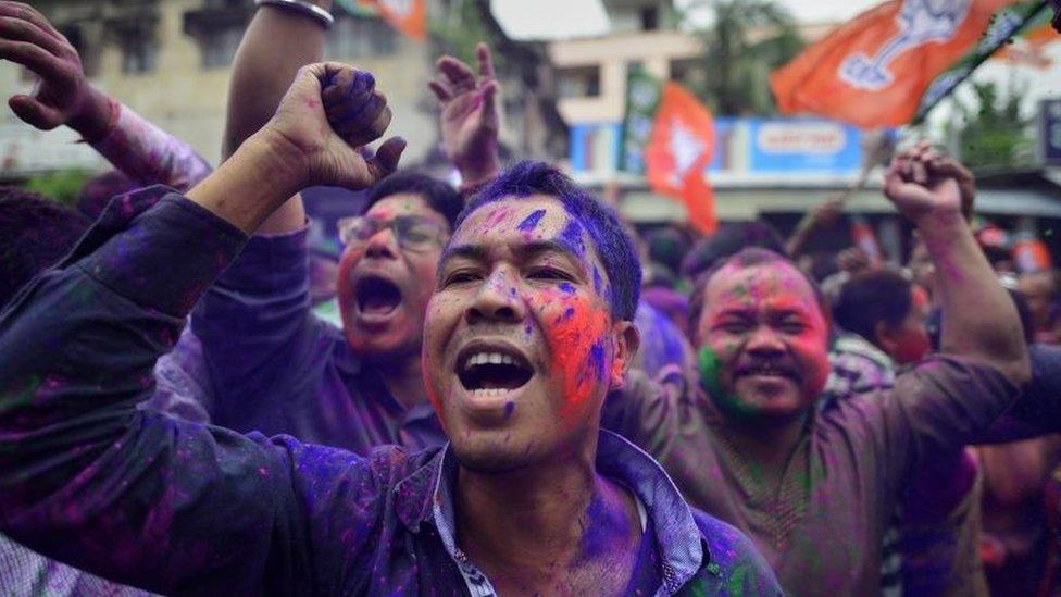
[[[844,329],[877,344],[878,323],[902,325],[913,307],[913,284],[891,270],[863,272],[847,281],[833,306],[833,318]]]

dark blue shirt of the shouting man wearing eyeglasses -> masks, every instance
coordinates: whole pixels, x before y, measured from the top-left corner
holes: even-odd
[[[305,229],[248,241],[160,365],[168,387],[188,391],[166,391],[158,406],[172,411],[190,397],[201,422],[360,455],[385,444],[440,446],[446,435],[430,405],[398,402],[342,333],[311,311],[305,241]]]

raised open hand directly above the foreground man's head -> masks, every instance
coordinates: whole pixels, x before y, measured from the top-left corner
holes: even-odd
[[[464,62],[442,57],[436,63],[439,76],[428,86],[441,105],[442,145],[464,183],[485,183],[497,176],[497,95],[500,89],[494,61],[486,43],[475,48],[478,76]]]

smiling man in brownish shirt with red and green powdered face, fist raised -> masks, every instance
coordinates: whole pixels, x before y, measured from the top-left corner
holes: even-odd
[[[899,156],[885,192],[937,263],[940,355],[891,389],[819,412],[829,315],[790,261],[749,249],[696,286],[702,391],[609,405],[604,424],[654,455],[690,503],[756,540],[786,592],[879,592],[884,531],[915,472],[962,446],[1028,375],[1020,321],[931,156]]]

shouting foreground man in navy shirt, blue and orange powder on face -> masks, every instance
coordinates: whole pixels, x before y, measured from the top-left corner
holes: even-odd
[[[136,409],[274,210],[395,169],[400,140],[366,161],[325,116],[322,88],[354,77],[300,70],[187,197],[113,203],[4,312],[0,531],[164,594],[778,594],[750,542],[599,431],[637,349],[639,268],[614,213],[546,164],[486,188],[440,264],[423,361],[450,445],[360,457]]]

